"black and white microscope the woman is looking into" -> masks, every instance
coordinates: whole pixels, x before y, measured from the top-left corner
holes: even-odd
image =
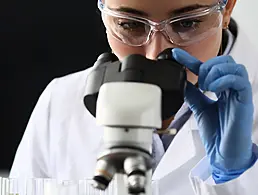
[[[87,78],[84,104],[104,128],[104,150],[92,185],[119,195],[152,194],[152,136],[184,102],[185,67],[171,48],[156,60],[133,54],[99,56]],[[96,132],[97,133],[97,132]]]

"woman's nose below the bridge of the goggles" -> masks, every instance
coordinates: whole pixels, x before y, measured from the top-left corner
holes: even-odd
[[[145,56],[155,60],[157,56],[167,48],[173,48],[173,45],[162,32],[155,32],[150,42],[145,46]]]

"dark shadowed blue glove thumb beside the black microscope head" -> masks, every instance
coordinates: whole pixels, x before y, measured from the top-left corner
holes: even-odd
[[[197,87],[192,83],[187,82],[185,90],[185,101],[188,103],[190,109],[195,115],[198,115],[206,108],[207,105],[213,103],[211,99],[206,97]]]

